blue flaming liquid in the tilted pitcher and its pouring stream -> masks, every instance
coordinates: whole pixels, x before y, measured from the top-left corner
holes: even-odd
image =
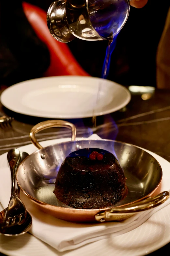
[[[129,14],[129,2],[127,0],[88,0],[88,9],[89,18],[95,31],[102,38],[109,40],[102,70],[102,78],[107,78],[117,35]]]

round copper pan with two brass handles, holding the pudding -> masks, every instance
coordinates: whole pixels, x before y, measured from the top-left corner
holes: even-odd
[[[42,147],[35,134],[51,127],[67,127],[72,130],[72,140]],[[160,185],[162,168],[159,162],[141,148],[113,140],[76,141],[73,124],[50,120],[35,125],[30,131],[31,142],[39,149],[29,155],[17,170],[17,182],[22,192],[42,211],[57,218],[76,221],[121,221],[133,214],[162,204],[168,197],[167,191],[150,197]],[[114,207],[82,210],[74,209],[58,201],[54,195],[55,179],[65,157],[76,149],[95,147],[112,152],[122,167],[128,194]]]

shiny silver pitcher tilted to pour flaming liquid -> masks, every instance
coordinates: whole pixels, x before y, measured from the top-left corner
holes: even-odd
[[[129,7],[129,0],[57,0],[48,9],[47,25],[62,43],[75,37],[110,40],[124,26]]]

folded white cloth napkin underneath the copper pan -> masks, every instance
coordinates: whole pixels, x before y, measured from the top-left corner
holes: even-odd
[[[164,168],[166,169],[166,166],[164,166]],[[160,185],[161,191],[170,190],[169,176],[163,176]],[[9,168],[0,168],[0,177],[0,202],[5,208],[8,205],[11,192]],[[144,223],[155,212],[166,207],[166,205],[170,203],[170,199],[168,199],[162,205],[145,212],[137,213],[122,222],[78,224],[60,220],[39,211],[22,193],[21,200],[24,202],[27,210],[31,213],[33,218],[33,225],[30,233],[61,252],[105,239],[109,234],[112,234],[112,236],[118,236],[133,230]]]

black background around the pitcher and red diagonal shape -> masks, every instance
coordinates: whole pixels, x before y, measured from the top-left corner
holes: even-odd
[[[48,49],[21,13],[21,2],[0,0],[0,84],[7,86],[41,77],[50,63]],[[53,1],[27,2],[47,11]],[[130,7],[129,18],[112,53],[107,79],[122,85],[156,87],[156,53],[169,6],[169,0],[149,0],[142,9]],[[76,38],[68,46],[91,76],[101,77],[107,44]]]

